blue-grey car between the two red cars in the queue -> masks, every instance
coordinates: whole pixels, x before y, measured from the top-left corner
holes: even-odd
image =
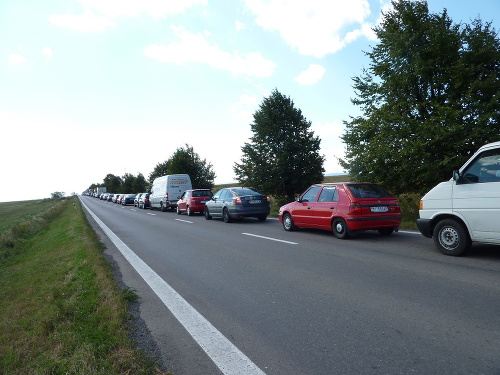
[[[270,199],[253,188],[230,187],[219,190],[205,203],[205,219],[222,217],[230,223],[234,219],[256,217],[265,221],[271,210]]]

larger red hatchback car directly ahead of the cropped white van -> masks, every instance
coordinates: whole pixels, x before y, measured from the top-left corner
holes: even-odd
[[[384,235],[397,231],[401,210],[398,200],[377,184],[340,182],[312,185],[280,208],[279,220],[287,231],[319,228],[344,239],[359,230],[374,229]]]

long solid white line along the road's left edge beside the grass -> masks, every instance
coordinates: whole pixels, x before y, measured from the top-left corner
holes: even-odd
[[[146,281],[165,306],[186,328],[194,340],[208,354],[223,374],[265,375],[245,354],[234,346],[208,320],[196,311],[180,294],[168,285],[155,271],[140,259],[122,240],[116,236],[86,205],[80,200],[89,214],[99,224],[123,256]]]

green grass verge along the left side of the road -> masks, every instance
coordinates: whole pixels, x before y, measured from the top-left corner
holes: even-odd
[[[128,337],[135,297],[118,289],[78,201],[51,203],[56,217],[0,263],[0,373],[161,373]]]

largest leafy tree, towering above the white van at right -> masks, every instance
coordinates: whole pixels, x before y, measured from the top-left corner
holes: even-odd
[[[393,1],[354,77],[341,165],[353,180],[424,192],[481,145],[500,139],[500,44],[491,24],[457,25],[427,2]]]

